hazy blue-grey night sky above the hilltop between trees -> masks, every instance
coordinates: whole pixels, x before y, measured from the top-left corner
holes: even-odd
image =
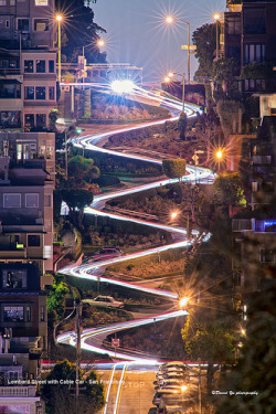
[[[144,67],[145,81],[161,83],[168,71],[187,74],[187,24],[168,26],[164,15],[190,23],[192,32],[211,23],[214,12],[225,11],[226,0],[97,0],[95,22],[106,29],[107,61]],[[198,63],[192,56],[192,73]]]

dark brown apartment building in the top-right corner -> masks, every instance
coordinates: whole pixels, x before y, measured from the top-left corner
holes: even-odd
[[[223,15],[223,54],[234,57],[240,71],[247,64],[276,62],[276,0],[227,0],[227,12]],[[272,73],[238,82],[245,94],[275,91]]]

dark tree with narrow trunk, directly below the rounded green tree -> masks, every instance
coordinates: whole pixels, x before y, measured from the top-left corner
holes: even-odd
[[[93,193],[87,190],[71,189],[62,190],[62,199],[70,209],[70,215],[75,225],[82,225],[84,209],[92,204]]]

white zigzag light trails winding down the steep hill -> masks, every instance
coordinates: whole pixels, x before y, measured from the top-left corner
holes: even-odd
[[[78,84],[77,84],[77,86],[78,86]],[[98,87],[98,84],[97,85],[96,84],[88,84],[88,86],[91,86],[91,87],[97,86]],[[99,87],[104,87],[104,86],[100,85]],[[144,91],[142,88],[137,87],[135,89],[135,94],[137,94],[139,96],[150,96],[156,102],[158,102],[160,104],[162,103],[162,105],[166,105],[166,107],[168,107],[170,109],[178,110],[179,113],[182,110],[182,104],[181,103],[179,103],[177,100],[173,100],[173,99],[169,99],[169,98],[158,97],[157,95],[155,95],[152,93],[149,93],[147,91]],[[197,112],[200,112],[200,109],[197,106],[191,105],[191,104],[185,104],[185,113],[189,117],[195,116]],[[129,128],[121,128],[119,130],[108,131],[108,132],[104,132],[104,134],[96,134],[96,135],[93,135],[93,136],[87,135],[87,136],[83,136],[83,137],[73,139],[72,142],[74,144],[74,146],[76,146],[78,148],[86,148],[86,149],[103,152],[103,153],[108,153],[108,155],[114,155],[114,156],[118,156],[118,157],[125,157],[125,158],[136,159],[136,160],[140,160],[140,161],[148,161],[148,162],[161,164],[162,161],[158,160],[158,159],[155,159],[155,158],[135,155],[135,153],[118,152],[118,151],[115,151],[115,150],[102,148],[99,145],[103,140],[105,140],[110,135],[121,134],[121,132],[129,131],[129,130],[137,130],[137,129],[140,129],[140,128],[146,128],[148,126],[153,126],[153,125],[161,125],[161,124],[163,124],[168,120],[176,120],[176,119],[178,119],[178,117],[150,121],[150,123],[132,126],[132,127],[129,127]],[[188,166],[187,171],[188,171],[188,174],[182,178],[183,181],[197,182],[198,180],[200,180],[200,182],[210,182],[210,181],[213,181],[214,178],[215,178],[215,174],[211,170],[204,169],[204,168],[201,168],[201,167]],[[94,198],[94,201],[93,201],[92,205],[89,208],[85,209],[86,214],[94,214],[94,215],[98,215],[98,216],[108,216],[108,217],[115,219],[115,220],[134,222],[134,223],[137,223],[137,224],[148,225],[148,226],[151,226],[151,227],[155,227],[155,229],[168,231],[172,234],[172,237],[174,238],[173,243],[164,245],[164,246],[149,248],[149,250],[142,251],[142,252],[136,252],[136,253],[129,254],[127,256],[120,256],[120,257],[116,257],[116,258],[113,258],[113,259],[102,261],[100,263],[96,262],[96,263],[85,264],[85,265],[81,265],[81,266],[70,265],[70,266],[64,267],[62,270],[60,270],[60,273],[63,273],[63,274],[66,274],[66,275],[72,275],[72,276],[79,277],[79,278],[91,279],[91,280],[94,280],[94,282],[114,284],[114,285],[118,285],[120,287],[136,289],[136,290],[140,290],[140,291],[144,291],[144,293],[149,293],[149,294],[167,297],[167,298],[170,298],[172,300],[173,299],[178,300],[178,295],[172,293],[172,291],[169,291],[169,290],[148,288],[148,287],[145,287],[145,286],[139,286],[139,285],[128,283],[128,282],[124,282],[124,280],[119,280],[119,279],[113,279],[113,278],[102,276],[104,269],[107,266],[109,266],[110,264],[128,261],[130,258],[147,256],[147,255],[151,255],[151,254],[155,254],[155,253],[164,252],[164,251],[170,250],[170,248],[187,247],[192,243],[192,241],[187,240],[187,231],[184,229],[173,227],[173,226],[160,224],[160,223],[152,223],[152,222],[144,221],[144,220],[140,220],[140,219],[135,219],[135,217],[121,216],[121,215],[105,212],[105,211],[102,210],[105,205],[105,202],[107,200],[110,200],[110,199],[115,198],[115,197],[126,195],[126,194],[130,194],[130,193],[135,193],[135,192],[139,192],[139,191],[145,191],[145,190],[148,190],[148,189],[158,188],[158,187],[166,185],[168,183],[174,183],[174,182],[178,182],[178,181],[179,180],[177,180],[177,179],[176,180],[168,180],[168,179],[157,180],[155,182],[138,185],[138,187],[135,187],[135,188],[114,191],[113,193],[108,193],[108,194],[96,195]],[[192,235],[194,237],[197,237],[197,236],[199,236],[199,232],[193,231]],[[205,234],[203,236],[203,241],[209,240],[209,237],[210,237],[210,234]],[[97,352],[99,354],[100,353],[102,354],[108,353],[108,355],[110,358],[116,358],[116,359],[121,359],[121,360],[128,361],[127,363],[131,362],[131,363],[135,363],[135,364],[156,365],[158,363],[158,361],[155,360],[155,359],[147,359],[147,358],[142,358],[142,357],[137,357],[137,355],[128,354],[126,352],[125,353],[114,352],[112,350],[107,350],[107,349],[104,349],[102,347],[96,346],[95,342],[94,342],[94,344],[87,343],[87,341],[89,340],[89,342],[92,342],[93,339],[95,339],[95,338],[98,338],[98,337],[105,338],[108,335],[112,335],[114,332],[118,332],[118,331],[121,331],[121,330],[125,330],[125,329],[140,327],[140,326],[145,326],[145,325],[148,325],[148,323],[161,321],[161,320],[167,320],[169,318],[176,318],[176,317],[187,316],[187,315],[188,315],[188,312],[184,311],[184,310],[177,310],[177,311],[173,311],[173,312],[157,315],[157,316],[149,317],[149,318],[131,320],[131,321],[120,322],[120,323],[114,323],[114,325],[107,326],[107,327],[88,328],[88,329],[85,329],[83,331],[82,336],[81,336],[81,347],[82,347],[82,349],[89,350],[89,351],[93,351],[93,352]],[[57,337],[57,342],[68,343],[68,344],[72,344],[73,347],[75,347],[76,346],[76,335],[75,335],[74,331],[61,333]],[[114,367],[117,367],[117,365],[118,364],[116,363]],[[114,372],[115,372],[115,370],[113,371],[113,375],[114,375]],[[108,400],[108,395],[109,395],[109,389],[108,389],[107,400]],[[116,411],[117,411],[117,405],[116,405],[116,410],[114,411],[114,414],[116,414]],[[104,414],[105,413],[106,413],[106,411],[104,411]]]

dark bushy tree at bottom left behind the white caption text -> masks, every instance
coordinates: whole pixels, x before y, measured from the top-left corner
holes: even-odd
[[[57,362],[46,378],[42,395],[51,414],[93,414],[104,405],[104,386],[94,371],[84,379],[78,371],[79,395],[76,407],[76,368],[67,360]]]

